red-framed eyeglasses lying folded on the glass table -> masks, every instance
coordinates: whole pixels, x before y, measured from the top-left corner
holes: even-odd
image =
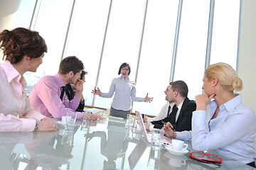
[[[215,164],[221,166],[222,159],[217,154],[206,154],[203,152],[191,152],[189,158],[194,159],[198,162],[204,162],[207,164]]]

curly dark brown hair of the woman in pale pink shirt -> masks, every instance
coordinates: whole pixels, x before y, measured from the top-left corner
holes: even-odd
[[[11,64],[20,62],[24,55],[33,59],[47,52],[46,42],[41,35],[26,28],[3,30],[0,33],[0,48],[4,51],[3,60],[9,60]]]

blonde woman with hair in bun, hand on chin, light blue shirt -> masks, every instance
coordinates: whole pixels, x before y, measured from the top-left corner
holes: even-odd
[[[202,89],[205,94],[196,96],[192,131],[174,132],[167,123],[166,135],[191,139],[195,150],[218,149],[223,155],[255,167],[255,113],[242,103],[240,94],[234,93],[242,90],[242,79],[228,64],[211,64],[204,72]]]

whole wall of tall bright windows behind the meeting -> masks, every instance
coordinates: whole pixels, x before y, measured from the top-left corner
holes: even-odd
[[[86,105],[110,108],[112,98],[91,91],[98,86],[107,92],[119,66],[128,62],[137,96],[154,97],[152,103],[134,102],[132,111],[157,115],[169,81],[185,81],[193,99],[202,92],[206,60],[235,68],[239,13],[239,0],[21,0],[12,26],[37,30],[48,45],[38,72],[26,74],[28,87],[56,74],[63,57],[75,55],[88,72]]]

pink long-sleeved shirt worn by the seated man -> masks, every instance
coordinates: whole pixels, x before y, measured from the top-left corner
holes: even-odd
[[[41,78],[31,91],[29,98],[36,111],[41,112],[47,117],[62,118],[68,111],[75,112],[80,103],[80,98],[75,96],[72,101],[64,94],[60,100],[61,87],[65,86],[59,74],[55,76],[45,76]],[[76,112],[77,119],[82,118],[82,113]]]

